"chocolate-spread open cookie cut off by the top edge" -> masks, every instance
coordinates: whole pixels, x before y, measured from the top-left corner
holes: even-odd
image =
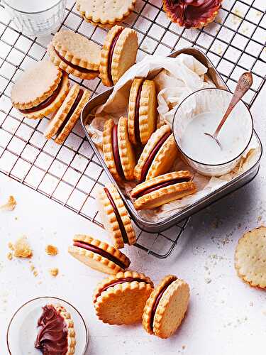
[[[165,9],[186,28],[198,26],[221,8],[221,0],[167,0]]]

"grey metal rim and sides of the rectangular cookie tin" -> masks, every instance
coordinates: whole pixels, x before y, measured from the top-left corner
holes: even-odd
[[[207,58],[206,55],[203,52],[201,52],[201,50],[198,50],[198,49],[192,48],[192,47],[183,48],[181,50],[177,50],[176,52],[171,53],[169,55],[169,57],[175,58],[181,53],[193,55],[194,58],[199,60],[199,62],[201,62],[203,65],[205,65],[205,67],[208,68],[207,75],[214,82],[216,87],[221,88],[221,89],[228,89],[228,87],[226,86],[226,83],[223,82],[223,79],[218,74],[214,65],[211,63],[209,58]],[[260,147],[260,154],[258,155],[257,161],[253,165],[253,167],[251,167],[249,170],[247,170],[242,175],[239,175],[237,178],[234,178],[233,180],[228,182],[226,185],[221,186],[220,188],[218,188],[214,192],[211,192],[209,195],[201,198],[201,200],[194,202],[194,204],[190,205],[189,207],[182,209],[181,212],[177,212],[176,214],[172,214],[172,216],[170,216],[170,217],[165,217],[158,222],[150,222],[147,219],[144,219],[135,210],[131,200],[129,200],[128,197],[123,195],[123,192],[121,191],[120,187],[116,184],[116,181],[113,179],[113,176],[111,175],[108,168],[106,167],[106,164],[104,162],[104,158],[101,156],[101,153],[98,151],[98,149],[94,145],[92,138],[90,138],[90,136],[87,132],[87,129],[85,128],[85,126],[89,120],[89,114],[92,113],[93,109],[95,109],[96,107],[98,107],[101,104],[104,104],[104,102],[106,102],[106,100],[111,95],[111,92],[113,92],[113,88],[108,89],[105,92],[102,92],[101,94],[97,95],[96,97],[94,97],[93,99],[91,99],[87,103],[87,105],[84,107],[84,109],[82,111],[82,115],[81,115],[82,126],[83,126],[85,134],[89,140],[89,143],[92,146],[92,149],[93,149],[94,153],[96,154],[97,158],[101,162],[101,165],[103,166],[106,174],[108,175],[108,177],[111,180],[111,182],[113,183],[113,185],[116,186],[116,188],[118,189],[118,192],[120,192],[123,202],[125,203],[129,214],[131,214],[133,221],[141,229],[148,231],[150,233],[157,233],[160,231],[164,231],[165,229],[168,229],[171,226],[174,226],[175,224],[181,222],[182,220],[187,219],[188,217],[192,216],[192,214],[207,207],[209,204],[216,202],[217,200],[220,200],[221,197],[226,196],[230,192],[233,192],[234,190],[237,190],[239,187],[247,184],[248,182],[250,182],[250,180],[253,180],[253,178],[255,178],[255,176],[257,175],[258,170],[260,168],[260,158],[262,155],[262,143],[260,141],[260,138],[257,136],[257,133],[254,130],[254,136],[257,139],[258,145]]]

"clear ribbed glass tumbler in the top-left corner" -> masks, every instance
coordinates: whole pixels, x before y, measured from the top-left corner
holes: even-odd
[[[2,0],[18,31],[25,35],[47,35],[63,21],[66,0]]]

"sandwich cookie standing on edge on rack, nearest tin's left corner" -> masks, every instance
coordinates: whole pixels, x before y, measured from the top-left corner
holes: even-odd
[[[74,84],[60,109],[51,119],[47,129],[45,129],[43,133],[45,138],[50,139],[55,136],[55,143],[62,144],[79,119],[83,107],[89,101],[90,95],[89,90],[82,89],[79,84]]]

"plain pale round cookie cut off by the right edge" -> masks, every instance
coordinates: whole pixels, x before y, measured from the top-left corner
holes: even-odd
[[[239,239],[235,270],[245,283],[266,289],[266,226],[248,231]]]

